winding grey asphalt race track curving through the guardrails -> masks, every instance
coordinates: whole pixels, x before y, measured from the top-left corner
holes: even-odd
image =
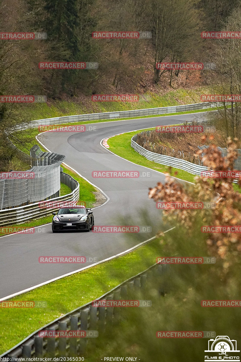
[[[206,117],[207,112],[195,113]],[[130,119],[91,124],[95,131],[47,132],[39,140],[52,152],[66,155],[66,164],[98,186],[109,197],[105,205],[94,209],[95,225],[118,225],[118,216],[131,215],[135,225],[140,208],[160,218],[160,210],[147,198],[148,188],[164,181],[162,173],[130,163],[109,152],[100,141],[122,132],[145,129],[158,125],[191,121],[194,114],[166,117]],[[74,125],[74,123],[73,123]],[[92,178],[92,171],[139,171],[150,172],[150,177],[139,178]],[[84,200],[81,200],[84,201]],[[35,228],[34,234],[17,233],[0,238],[0,299],[39,283],[49,281],[86,264],[39,264],[39,256],[85,256],[100,261],[114,256],[149,239],[151,233],[140,233],[136,238],[126,238],[124,233],[63,232],[53,234],[51,224]]]

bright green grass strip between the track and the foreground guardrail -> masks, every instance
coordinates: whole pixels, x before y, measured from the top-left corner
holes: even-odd
[[[80,238],[84,237],[80,235]],[[59,279],[10,300],[45,301],[45,308],[0,308],[0,354],[52,320],[91,302],[155,264],[160,239],[125,256]],[[79,251],[81,255],[81,251]],[[97,260],[98,260],[98,256]],[[36,263],[38,258],[36,257]],[[42,267],[44,268],[44,264]],[[55,265],[52,264],[55,268]],[[81,268],[81,264],[79,265]]]

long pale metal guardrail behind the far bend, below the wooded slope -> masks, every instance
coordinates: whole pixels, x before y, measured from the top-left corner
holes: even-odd
[[[216,102],[216,103],[203,102],[203,103],[186,104],[181,106],[137,109],[137,110],[128,110],[120,112],[89,113],[89,114],[69,115],[69,116],[56,117],[56,118],[44,118],[44,119],[37,119],[36,121],[32,121],[30,123],[23,123],[22,125],[15,127],[14,131],[34,128],[40,125],[56,125],[56,124],[70,123],[70,122],[93,121],[95,119],[139,117],[145,115],[157,115],[165,113],[184,112],[196,109],[215,108],[216,106],[223,106],[223,102]]]

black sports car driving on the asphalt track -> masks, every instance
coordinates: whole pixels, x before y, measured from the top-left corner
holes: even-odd
[[[85,206],[73,205],[61,207],[59,211],[53,212],[52,232],[63,230],[86,230],[94,228],[94,215],[91,209]]]

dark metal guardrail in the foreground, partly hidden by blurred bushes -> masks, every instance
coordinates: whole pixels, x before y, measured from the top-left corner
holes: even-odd
[[[128,298],[136,300],[140,297],[148,298],[148,285],[151,285],[151,283],[155,284],[159,295],[164,296],[169,290],[169,273],[167,273],[169,268],[167,267],[168,265],[165,264],[154,264],[95,300],[127,300]],[[111,325],[114,320],[118,320],[115,308],[94,307],[90,302],[38,329],[25,338],[25,340],[0,355],[0,357],[53,358],[56,356],[76,357],[83,355],[89,338],[43,338],[38,336],[38,332],[50,330],[91,330],[98,331],[100,336],[101,333],[104,333],[105,326]]]

